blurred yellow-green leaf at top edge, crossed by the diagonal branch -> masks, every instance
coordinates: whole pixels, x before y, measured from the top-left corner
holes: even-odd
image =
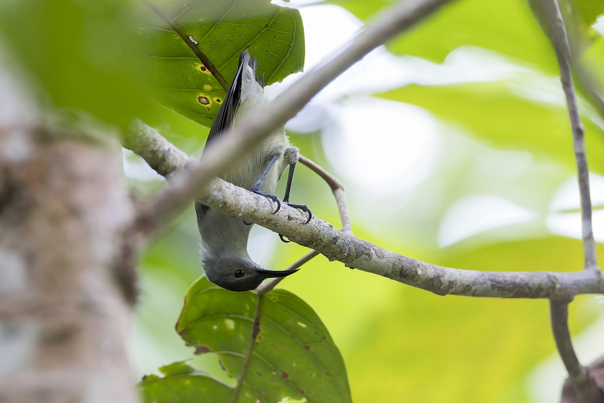
[[[394,0],[330,0],[368,21]],[[522,44],[522,46],[519,46]],[[391,40],[388,50],[434,62],[462,46],[493,50],[557,73],[556,57],[525,0],[453,1],[413,29]]]

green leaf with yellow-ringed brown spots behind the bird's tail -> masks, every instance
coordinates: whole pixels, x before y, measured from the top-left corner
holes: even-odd
[[[227,83],[237,71],[239,54],[247,48],[259,60],[258,74],[264,75],[267,85],[304,65],[302,19],[293,8],[268,0],[164,1],[158,8],[185,37],[198,42]],[[142,53],[159,102],[210,126],[225,89],[161,16],[151,10],[148,14],[141,27],[147,44]]]

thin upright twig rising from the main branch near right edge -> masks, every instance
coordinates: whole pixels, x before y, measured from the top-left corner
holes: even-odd
[[[577,161],[577,173],[579,178],[579,195],[581,201],[582,233],[583,233],[583,256],[585,269],[598,270],[596,257],[596,241],[594,240],[593,226],[591,222],[591,197],[590,197],[590,172],[587,167],[585,154],[585,127],[581,123],[577,99],[574,93],[573,76],[571,75],[570,60],[571,52],[568,45],[568,37],[562,13],[556,0],[542,0],[542,12],[547,19],[550,32],[551,44],[556,51],[558,65],[560,67],[560,81],[567,101],[568,115],[573,130],[573,147]]]

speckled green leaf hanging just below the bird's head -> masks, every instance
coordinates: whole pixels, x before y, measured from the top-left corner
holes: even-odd
[[[176,330],[198,353],[220,356],[238,380],[232,401],[351,401],[338,348],[312,308],[291,292],[259,297],[201,277],[187,292]]]

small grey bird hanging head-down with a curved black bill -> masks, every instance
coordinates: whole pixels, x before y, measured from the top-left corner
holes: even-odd
[[[226,97],[210,128],[207,144],[220,137],[231,125],[254,115],[268,103],[264,94],[264,79],[257,77],[258,64],[247,50],[239,56],[239,68],[226,93]],[[205,150],[204,150],[205,152]],[[289,166],[288,182],[283,202],[289,204],[294,168],[300,151],[289,143],[283,127],[265,138],[254,152],[246,155],[242,164],[226,172],[222,179],[234,185],[266,196],[277,204],[274,213],[281,208],[281,202],[273,194],[277,182]],[[306,205],[289,204],[308,214]],[[270,277],[289,276],[297,270],[265,270],[252,262],[248,255],[248,237],[251,224],[239,218],[229,217],[213,211],[207,205],[195,203],[199,234],[201,235],[201,256],[205,276],[216,285],[231,291],[248,291],[256,288]],[[281,237],[281,240],[287,242]]]

